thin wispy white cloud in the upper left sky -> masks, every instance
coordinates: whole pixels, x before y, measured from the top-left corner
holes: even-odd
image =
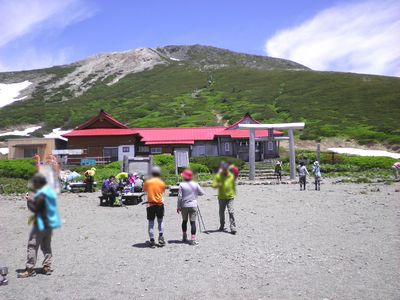
[[[65,63],[68,49],[43,49],[35,38],[59,32],[93,15],[82,0],[0,0],[0,70],[20,70]],[[21,43],[19,51],[7,51]],[[11,54],[9,53],[11,52]],[[4,54],[6,53],[6,54]]]

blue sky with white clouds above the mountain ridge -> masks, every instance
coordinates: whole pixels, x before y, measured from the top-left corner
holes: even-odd
[[[0,71],[204,44],[400,76],[400,1],[0,0]]]

